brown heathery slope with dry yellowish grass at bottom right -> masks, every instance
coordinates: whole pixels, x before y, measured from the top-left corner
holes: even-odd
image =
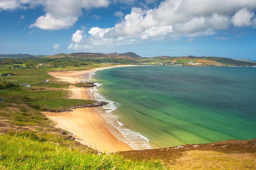
[[[255,169],[256,139],[119,152],[136,160],[160,159],[170,169]]]

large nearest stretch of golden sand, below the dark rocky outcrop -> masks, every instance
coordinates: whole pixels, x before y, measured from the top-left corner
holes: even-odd
[[[93,149],[107,153],[133,150],[128,144],[117,139],[110,131],[105,119],[95,108],[74,109],[73,112],[53,113],[44,112],[57,125],[72,132],[76,140]]]

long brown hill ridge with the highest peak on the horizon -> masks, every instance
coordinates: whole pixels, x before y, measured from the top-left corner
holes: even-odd
[[[62,58],[62,57],[82,57],[82,58],[123,58],[123,59],[143,59],[139,55],[133,53],[133,52],[127,52],[127,53],[85,53],[85,52],[78,52],[78,53],[70,53],[70,54],[56,54],[53,56],[47,56],[51,58]]]

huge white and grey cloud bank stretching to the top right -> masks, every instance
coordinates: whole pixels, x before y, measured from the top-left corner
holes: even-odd
[[[179,37],[190,37],[191,42],[193,37],[228,30],[231,24],[255,27],[255,9],[255,0],[164,0],[153,9],[134,7],[124,18],[121,11],[115,12],[115,16],[123,19],[113,28],[93,27],[82,43],[73,45],[102,47]],[[227,37],[216,39],[227,40]]]

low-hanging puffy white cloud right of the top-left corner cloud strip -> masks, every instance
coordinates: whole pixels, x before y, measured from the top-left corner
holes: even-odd
[[[68,29],[82,15],[82,9],[101,8],[109,5],[108,0],[46,0],[45,15],[40,16],[30,27],[45,30]],[[99,19],[99,16],[95,16]]]

